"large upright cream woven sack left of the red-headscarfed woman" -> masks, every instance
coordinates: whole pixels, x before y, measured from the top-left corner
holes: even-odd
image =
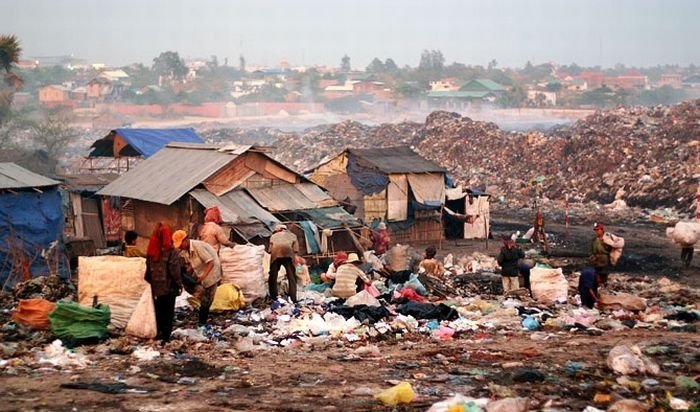
[[[146,259],[123,256],[80,256],[78,258],[78,302],[99,303],[112,311],[112,326],[126,327],[148,283],[143,280]]]

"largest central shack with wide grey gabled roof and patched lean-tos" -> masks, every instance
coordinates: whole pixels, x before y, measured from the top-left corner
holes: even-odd
[[[186,143],[167,145],[98,194],[128,199],[130,207],[121,210],[122,229],[135,230],[144,241],[158,221],[194,233],[204,209],[218,206],[233,240],[263,244],[284,219],[277,212],[324,209],[332,201],[306,178],[254,146]],[[332,201],[331,206],[335,204]],[[311,241],[303,242],[304,226],[290,228],[300,235],[301,253],[307,251],[304,243]],[[317,226],[315,233],[320,232],[318,227],[323,230]]]

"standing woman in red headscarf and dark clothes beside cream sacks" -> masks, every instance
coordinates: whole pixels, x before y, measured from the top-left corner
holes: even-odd
[[[170,340],[175,317],[175,298],[182,292],[180,255],[173,248],[170,226],[157,223],[148,241],[145,279],[151,284],[156,310],[156,339]]]

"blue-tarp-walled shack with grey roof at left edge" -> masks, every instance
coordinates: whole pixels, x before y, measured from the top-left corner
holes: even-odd
[[[59,182],[0,163],[0,282],[67,276]]]

